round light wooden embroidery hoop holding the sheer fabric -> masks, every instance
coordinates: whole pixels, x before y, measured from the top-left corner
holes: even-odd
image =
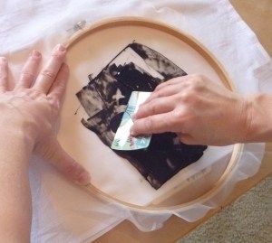
[[[120,26],[148,27],[163,33],[168,33],[178,38],[181,42],[187,43],[195,51],[198,51],[199,54],[206,61],[208,61],[209,65],[213,68],[213,70],[216,71],[216,73],[219,76],[219,79],[221,79],[222,83],[227,89],[235,90],[232,81],[229,79],[228,74],[226,73],[222,65],[213,56],[213,54],[210,53],[201,43],[199,43],[195,38],[193,38],[187,33],[182,33],[180,32],[180,30],[177,30],[168,24],[160,23],[151,19],[141,18],[141,17],[119,17],[119,18],[107,19],[99,23],[93,23],[89,27],[79,29],[76,33],[73,34],[73,36],[67,42],[64,42],[64,45],[67,47],[67,50],[69,51],[69,49],[71,49],[71,47],[74,44],[82,40],[87,35],[90,35],[92,33],[97,33],[106,29],[120,27]],[[222,175],[219,177],[218,182],[214,183],[213,187],[208,192],[205,192],[200,197],[186,203],[182,203],[182,204],[178,204],[174,206],[156,206],[154,205],[154,203],[151,203],[150,206],[139,206],[139,205],[131,204],[126,201],[121,201],[119,199],[113,198],[111,195],[108,195],[105,192],[102,192],[100,189],[93,186],[91,183],[84,186],[83,188],[87,192],[92,193],[92,195],[94,194],[98,196],[104,201],[108,201],[113,204],[118,204],[121,207],[127,208],[129,210],[134,210],[134,211],[156,214],[156,213],[169,213],[169,212],[180,210],[185,207],[189,208],[189,207],[192,207],[196,203],[201,204],[201,203],[205,203],[206,201],[209,201],[209,199],[211,199],[213,196],[217,195],[218,192],[220,192],[220,190],[226,183],[228,176],[230,176],[230,174],[233,172],[233,168],[238,162],[238,157],[239,157],[239,154],[243,150],[243,146],[244,145],[242,144],[234,145],[233,152],[231,154],[228,166],[225,172],[222,173]],[[174,197],[175,194],[179,192],[182,187],[183,186],[180,185],[180,187],[175,188],[173,192],[167,193],[167,195],[165,195],[163,198],[160,198],[159,202],[168,200],[170,197]],[[158,200],[156,200],[156,204],[157,205],[159,204]]]

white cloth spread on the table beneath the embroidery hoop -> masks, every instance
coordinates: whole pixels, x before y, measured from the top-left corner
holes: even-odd
[[[225,66],[239,92],[271,93],[271,59],[226,0],[1,1],[0,54],[9,58],[16,78],[31,49],[48,55],[53,45],[69,37],[66,30],[74,23],[121,15],[148,16],[190,33]],[[113,205],[90,200],[48,164],[33,163],[30,177],[33,242],[90,241],[129,216]],[[48,182],[55,184],[54,190]]]

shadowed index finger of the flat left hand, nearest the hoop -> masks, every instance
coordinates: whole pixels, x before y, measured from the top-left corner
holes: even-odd
[[[48,92],[48,97],[53,98],[54,101],[61,102],[67,86],[69,78],[69,67],[66,63],[63,63],[59,70],[57,77],[55,78],[51,89]]]

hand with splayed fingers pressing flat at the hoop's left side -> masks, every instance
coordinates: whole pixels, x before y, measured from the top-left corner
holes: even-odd
[[[63,151],[55,134],[69,76],[68,66],[63,62],[65,54],[65,47],[57,45],[38,73],[42,55],[33,51],[12,90],[8,89],[7,61],[0,58],[0,129],[16,131],[27,139],[26,144],[34,154],[51,162],[70,180],[87,184],[89,173]]]

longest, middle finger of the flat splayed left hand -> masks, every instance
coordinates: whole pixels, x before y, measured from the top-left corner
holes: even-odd
[[[39,89],[47,94],[51,88],[57,73],[63,65],[65,59],[66,48],[62,44],[58,44],[54,49],[50,60],[40,72],[34,83],[34,89]]]

